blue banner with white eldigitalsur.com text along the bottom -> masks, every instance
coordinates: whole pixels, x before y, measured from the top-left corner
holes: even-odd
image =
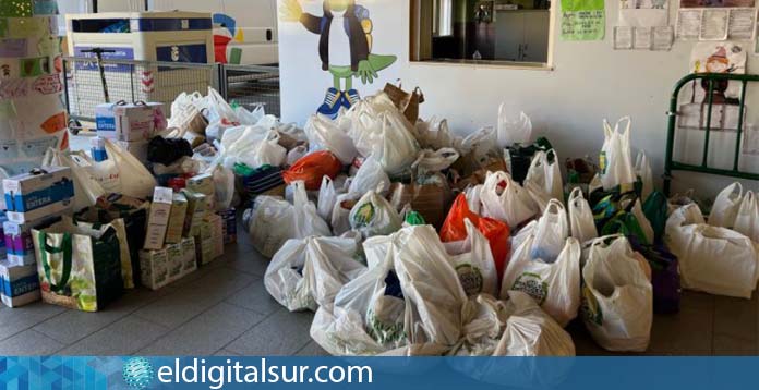
[[[754,388],[756,357],[0,357],[5,389]]]

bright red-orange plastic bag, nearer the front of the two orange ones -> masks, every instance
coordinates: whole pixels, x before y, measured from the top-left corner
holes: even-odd
[[[493,252],[493,259],[495,260],[495,267],[498,270],[498,280],[504,275],[506,270],[506,260],[508,258],[509,252],[511,251],[508,239],[511,235],[511,231],[508,224],[501,222],[492,218],[480,217],[469,209],[467,204],[467,197],[460,194],[454,206],[448,212],[448,217],[445,219],[443,229],[441,229],[441,240],[443,242],[456,242],[463,241],[467,239],[467,227],[463,220],[469,218],[477,229],[490,242],[491,252]]]

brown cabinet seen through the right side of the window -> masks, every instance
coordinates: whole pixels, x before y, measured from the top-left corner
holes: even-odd
[[[498,11],[495,16],[495,59],[547,62],[549,10]]]

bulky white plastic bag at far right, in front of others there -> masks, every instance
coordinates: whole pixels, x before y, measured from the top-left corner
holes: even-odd
[[[690,204],[667,219],[665,243],[679,260],[684,289],[751,297],[759,269],[749,237],[703,223],[698,206]]]

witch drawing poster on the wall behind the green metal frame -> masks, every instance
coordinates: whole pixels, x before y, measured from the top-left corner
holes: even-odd
[[[746,73],[747,50],[738,42],[700,42],[690,54],[691,73]],[[712,94],[706,80],[697,80],[682,95],[680,126],[704,129],[708,123],[708,105],[711,99],[712,130],[736,130],[739,123],[742,84],[728,81],[713,82]]]

